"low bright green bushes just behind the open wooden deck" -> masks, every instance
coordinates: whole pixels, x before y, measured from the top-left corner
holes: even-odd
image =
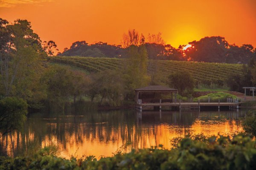
[[[198,99],[200,99],[200,102],[208,102],[208,97],[210,98],[210,102],[218,102],[218,99],[220,99],[220,102],[227,102],[227,98],[237,99],[237,96],[224,93],[224,92],[218,92],[218,93],[210,93],[206,96],[200,96],[193,99],[193,102],[198,102]]]

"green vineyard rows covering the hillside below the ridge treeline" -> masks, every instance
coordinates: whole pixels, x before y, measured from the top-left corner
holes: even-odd
[[[99,72],[106,69],[118,69],[123,65],[123,59],[96,58],[96,57],[51,57],[51,63],[70,65],[73,68],[83,69],[87,72]],[[192,77],[204,85],[218,84],[224,81],[230,74],[241,73],[241,64],[223,64],[207,62],[185,61],[153,61],[148,62],[148,72],[166,77],[177,70],[187,70]]]

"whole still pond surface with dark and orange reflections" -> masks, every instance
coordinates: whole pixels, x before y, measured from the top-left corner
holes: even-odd
[[[244,111],[109,111],[76,116],[29,115],[22,130],[0,138],[2,154],[17,156],[38,147],[57,145],[61,156],[112,156],[128,142],[128,149],[163,144],[187,133],[204,135],[242,131]]]

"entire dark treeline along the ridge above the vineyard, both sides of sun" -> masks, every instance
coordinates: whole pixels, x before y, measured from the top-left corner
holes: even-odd
[[[189,42],[190,47],[180,45],[178,48],[166,44],[158,34],[148,34],[145,37],[136,30],[128,30],[122,36],[122,45],[109,45],[103,42],[88,45],[85,41],[74,42],[70,49],[65,48],[62,56],[84,57],[127,57],[129,47],[145,46],[149,59],[221,62],[221,63],[250,63],[256,61],[256,49],[250,44],[240,47],[229,44],[224,37],[204,37],[199,41]]]

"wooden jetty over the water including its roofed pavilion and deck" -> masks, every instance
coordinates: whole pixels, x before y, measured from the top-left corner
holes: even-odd
[[[177,100],[177,89],[160,85],[151,85],[135,89],[135,108],[142,110],[186,110],[206,107],[239,109],[241,102],[238,99],[227,99],[226,102],[182,102]]]

